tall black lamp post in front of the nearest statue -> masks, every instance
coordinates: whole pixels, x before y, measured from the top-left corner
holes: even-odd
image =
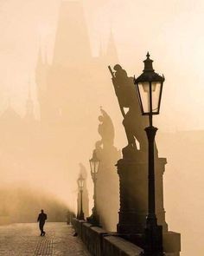
[[[145,128],[149,143],[148,163],[148,214],[145,228],[145,256],[160,256],[163,254],[163,226],[157,225],[155,197],[155,159],[154,146],[157,128],[152,125],[152,115],[158,115],[160,110],[164,76],[155,73],[150,54],[144,62],[143,74],[134,78],[142,115],[149,115],[150,126]]]

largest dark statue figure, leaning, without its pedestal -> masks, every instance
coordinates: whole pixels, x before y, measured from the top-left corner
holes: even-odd
[[[128,141],[126,149],[146,151],[147,138],[143,129],[148,126],[148,119],[141,114],[133,77],[129,77],[119,64],[114,66],[115,72],[110,66],[108,68],[112,73],[112,83],[124,117],[123,124]],[[128,108],[126,113],[125,108]],[[137,148],[136,140],[139,148]]]

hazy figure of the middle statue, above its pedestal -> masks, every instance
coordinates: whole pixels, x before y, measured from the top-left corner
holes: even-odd
[[[111,117],[105,112],[103,108],[100,108],[102,115],[99,115],[99,128],[98,132],[101,136],[101,140],[96,142],[96,148],[103,145],[103,148],[112,147],[114,143],[115,131],[112,124]]]

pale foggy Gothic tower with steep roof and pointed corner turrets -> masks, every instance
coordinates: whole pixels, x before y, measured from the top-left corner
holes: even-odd
[[[48,64],[40,50],[35,69],[41,121],[80,124],[79,115],[86,112],[87,97],[91,95],[93,104],[98,105],[92,91],[96,84],[107,84],[107,65],[113,62],[118,62],[118,56],[112,34],[105,55],[93,57],[82,3],[62,1],[53,60]]]

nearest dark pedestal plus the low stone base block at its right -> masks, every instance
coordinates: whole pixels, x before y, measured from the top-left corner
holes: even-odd
[[[146,154],[125,149],[124,158],[117,163],[120,188],[120,209],[117,232],[137,246],[144,246],[144,232],[148,212],[148,162]],[[156,218],[163,226],[165,253],[178,256],[181,251],[179,233],[169,232],[163,208],[163,173],[167,161],[155,156]]]

